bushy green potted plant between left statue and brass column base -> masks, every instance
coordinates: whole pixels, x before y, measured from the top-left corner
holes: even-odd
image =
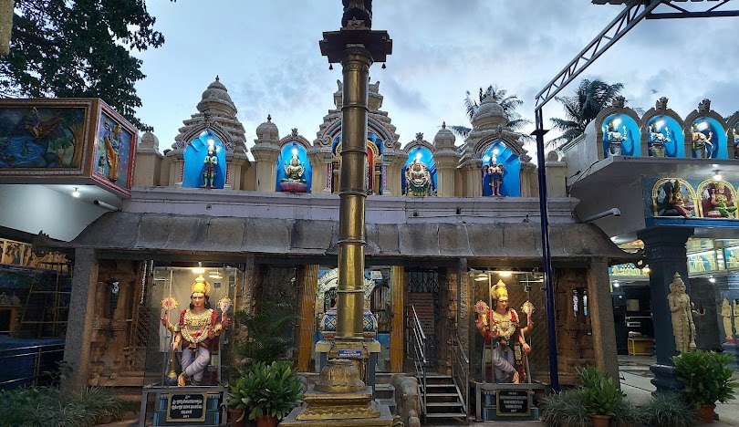
[[[303,386],[292,369],[292,363],[255,363],[232,385],[228,406],[248,413],[249,420],[256,420],[257,427],[276,427],[302,395]]]

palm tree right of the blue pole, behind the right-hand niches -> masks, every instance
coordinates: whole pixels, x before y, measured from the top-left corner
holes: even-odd
[[[555,128],[562,130],[562,135],[547,142],[547,145],[558,149],[567,142],[578,138],[585,132],[588,123],[595,120],[600,110],[605,109],[613,99],[619,96],[622,89],[623,85],[621,83],[609,85],[599,78],[592,80],[585,78],[580,82],[575,95],[555,97],[565,108],[567,119],[551,119]]]

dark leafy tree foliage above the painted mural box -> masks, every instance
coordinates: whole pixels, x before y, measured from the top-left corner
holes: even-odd
[[[104,99],[141,130],[135,83],[146,76],[132,51],[160,47],[144,0],[16,0],[0,91],[14,97]]]

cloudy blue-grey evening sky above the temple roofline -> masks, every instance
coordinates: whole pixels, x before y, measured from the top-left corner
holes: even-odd
[[[166,41],[136,54],[147,76],[136,86],[137,112],[161,151],[216,75],[238,109],[247,147],[268,114],[280,137],[297,128],[316,139],[341,78],[318,48],[322,32],[340,26],[339,0],[150,0],[147,7]],[[382,110],[403,146],[417,132],[433,141],[442,121],[469,125],[465,92],[476,96],[491,84],[523,99],[519,111],[533,120],[536,93],[622,8],[588,0],[375,0],[372,28],[390,33],[393,51],[370,78],[380,81]],[[708,98],[727,117],[739,109],[738,26],[739,17],[641,21],[559,95],[572,94],[581,78],[602,78],[623,83],[632,108],[667,97],[684,118]],[[546,127],[563,117],[555,100],[543,111]]]

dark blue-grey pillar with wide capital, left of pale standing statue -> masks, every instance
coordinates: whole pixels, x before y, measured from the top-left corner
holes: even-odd
[[[690,295],[688,257],[685,243],[692,236],[692,227],[653,227],[637,234],[644,242],[647,264],[650,266],[651,316],[654,321],[654,345],[657,363],[651,365],[654,372],[652,384],[657,391],[669,391],[681,386],[678,382],[671,356],[678,354],[672,333],[671,311],[667,302],[672,276],[677,272],[685,282],[685,292]]]

